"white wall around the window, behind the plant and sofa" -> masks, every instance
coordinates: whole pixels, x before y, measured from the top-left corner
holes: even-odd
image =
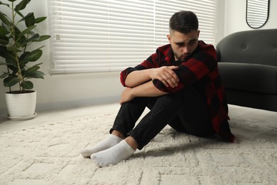
[[[36,16],[47,16],[47,0],[34,0],[27,6]],[[271,0],[268,22],[263,28],[277,28],[277,0]],[[217,20],[217,38],[236,31],[251,30],[246,24],[246,0],[219,0],[219,17]],[[37,30],[48,34],[48,23],[40,23]],[[119,73],[87,73],[77,75],[50,75],[49,44],[43,48],[42,70],[45,80],[34,80],[38,94],[37,111],[72,108],[99,103],[118,102],[123,87],[119,81]],[[4,70],[3,66],[0,71]],[[2,84],[2,82],[1,82]],[[4,93],[8,88],[0,85],[0,115],[6,114]]]

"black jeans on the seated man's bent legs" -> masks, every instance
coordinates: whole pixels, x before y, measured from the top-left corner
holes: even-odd
[[[150,112],[135,127],[146,107]],[[135,97],[130,102],[123,103],[110,133],[115,129],[125,136],[131,136],[139,144],[139,149],[142,149],[166,125],[199,137],[214,134],[207,105],[192,86],[173,94]]]

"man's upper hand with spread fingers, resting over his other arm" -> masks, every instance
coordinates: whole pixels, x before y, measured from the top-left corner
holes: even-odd
[[[179,78],[176,73],[173,71],[178,69],[178,66],[163,66],[161,68],[153,68],[150,77],[152,79],[160,80],[165,87],[175,88],[178,85]]]

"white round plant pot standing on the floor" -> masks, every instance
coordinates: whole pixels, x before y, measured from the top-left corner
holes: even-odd
[[[28,120],[36,116],[36,91],[6,93],[6,107],[11,120]]]

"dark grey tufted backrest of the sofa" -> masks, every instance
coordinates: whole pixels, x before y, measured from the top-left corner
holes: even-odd
[[[217,53],[224,63],[277,66],[277,29],[232,33],[217,43]]]

